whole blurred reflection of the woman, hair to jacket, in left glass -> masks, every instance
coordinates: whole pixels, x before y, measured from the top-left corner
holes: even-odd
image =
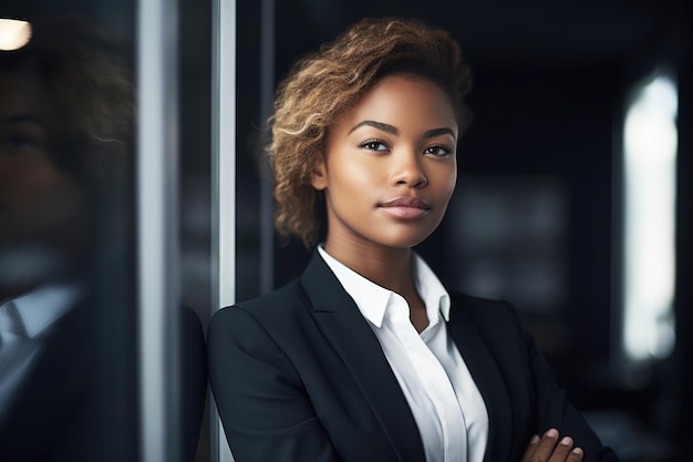
[[[2,461],[100,459],[93,287],[123,258],[124,227],[96,229],[126,202],[133,137],[115,49],[90,21],[56,19],[0,53]]]

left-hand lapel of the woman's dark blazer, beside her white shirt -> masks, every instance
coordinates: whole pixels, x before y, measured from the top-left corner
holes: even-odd
[[[344,361],[387,435],[397,459],[425,459],[416,422],[377,338],[355,302],[316,253],[301,285],[314,319]]]

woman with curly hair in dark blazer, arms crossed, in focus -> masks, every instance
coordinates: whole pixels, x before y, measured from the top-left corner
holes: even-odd
[[[300,280],[210,322],[239,462],[616,460],[514,310],[448,294],[412,250],[453,194],[468,86],[447,33],[397,20],[362,21],[281,85],[277,225],[312,244],[324,203],[327,238]]]

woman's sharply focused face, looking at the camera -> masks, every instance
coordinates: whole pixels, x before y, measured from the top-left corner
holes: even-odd
[[[438,226],[455,188],[458,127],[445,93],[387,76],[334,124],[312,175],[328,249],[411,248]]]

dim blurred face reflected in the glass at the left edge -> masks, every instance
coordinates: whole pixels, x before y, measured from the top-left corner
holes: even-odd
[[[52,161],[44,96],[30,75],[0,72],[0,260],[35,261],[31,273],[84,240],[84,195]],[[15,267],[1,266],[0,284]]]

